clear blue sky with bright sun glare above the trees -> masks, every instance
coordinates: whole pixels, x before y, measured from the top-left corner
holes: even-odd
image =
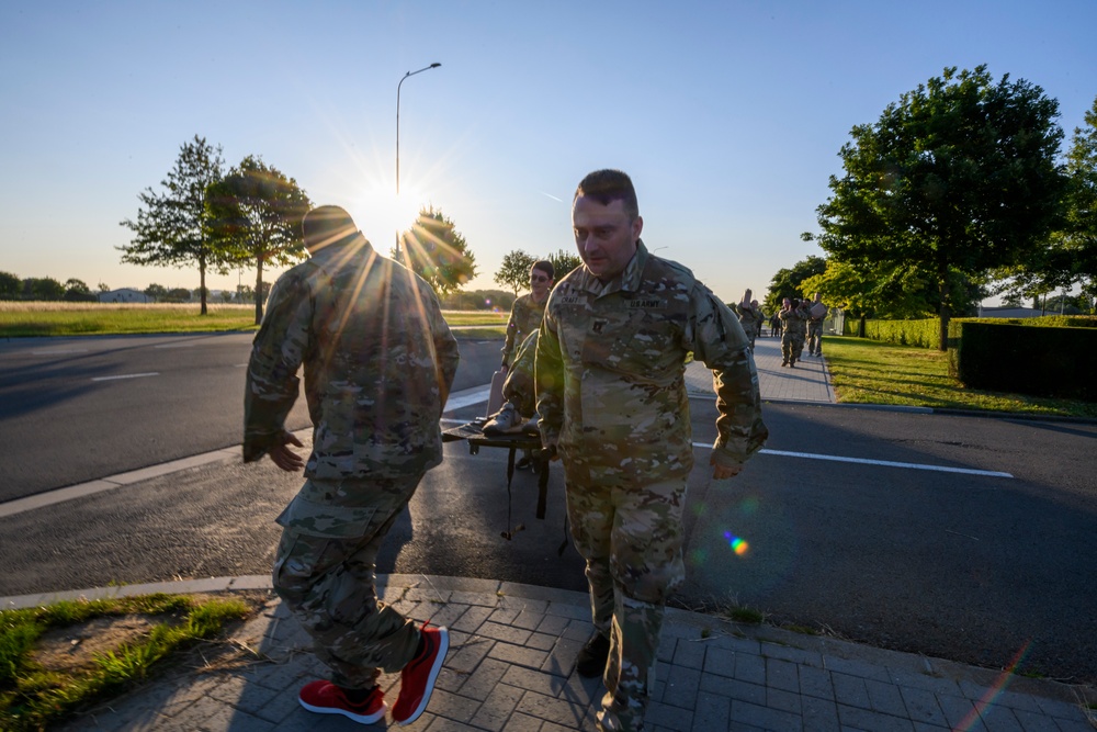
[[[384,252],[432,203],[476,255],[472,289],[507,251],[573,248],[576,183],[621,168],[649,248],[723,300],[760,297],[822,255],[800,234],[853,125],[987,64],[1058,99],[1068,139],[1097,97],[1095,27],[1094,0],[4,0],[0,270],[196,288],[115,247],[197,134],[347,207]],[[396,88],[433,61],[403,86],[398,214]]]

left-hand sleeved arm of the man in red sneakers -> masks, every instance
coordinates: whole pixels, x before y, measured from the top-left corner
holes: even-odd
[[[286,441],[285,418],[297,398],[297,370],[308,348],[310,299],[304,278],[287,273],[271,289],[252,341],[244,394],[244,461]]]

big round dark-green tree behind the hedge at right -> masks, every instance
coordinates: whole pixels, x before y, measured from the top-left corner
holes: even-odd
[[[913,266],[938,291],[941,348],[957,299],[952,272],[980,281],[1024,259],[1061,216],[1059,103],[985,66],[919,85],[842,146],[845,174],[817,209],[819,246],[837,261]],[[811,237],[812,235],[808,235]]]

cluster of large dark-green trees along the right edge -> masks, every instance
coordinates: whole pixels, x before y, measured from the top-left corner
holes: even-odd
[[[992,294],[1028,299],[1081,284],[1097,295],[1097,100],[1060,156],[1058,101],[947,68],[853,127],[821,205],[827,254],[774,275],[767,297],[825,293],[855,316],[953,313]],[[798,271],[799,270],[799,271]],[[801,277],[803,275],[803,277]]]

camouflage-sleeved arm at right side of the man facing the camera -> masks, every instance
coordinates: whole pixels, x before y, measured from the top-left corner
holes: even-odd
[[[734,474],[769,437],[750,341],[732,311],[700,283],[690,294],[690,311],[687,341],[693,358],[712,369],[720,412],[712,463],[717,475],[720,468],[734,469]]]

